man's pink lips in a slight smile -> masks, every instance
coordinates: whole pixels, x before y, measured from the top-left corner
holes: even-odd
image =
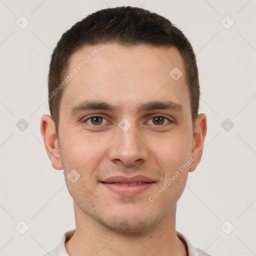
[[[104,181],[100,181],[104,186],[110,190],[121,194],[121,195],[136,195],[139,194],[148,188],[150,188],[155,181],[142,175],[137,175],[133,177],[125,176],[112,176]],[[127,183],[133,182],[147,182],[139,185],[128,185]]]

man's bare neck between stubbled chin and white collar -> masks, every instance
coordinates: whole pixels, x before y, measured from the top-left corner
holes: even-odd
[[[76,229],[65,242],[69,255],[187,255],[184,243],[176,235],[176,205],[157,226],[139,233],[110,230],[84,214],[75,203],[74,212]]]

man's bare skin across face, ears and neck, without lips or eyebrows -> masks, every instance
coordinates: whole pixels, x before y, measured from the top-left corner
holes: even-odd
[[[206,116],[200,113],[193,130],[184,63],[175,47],[119,44],[86,45],[70,57],[67,73],[95,48],[99,52],[65,86],[59,113],[59,141],[49,115],[41,118],[41,134],[55,169],[63,169],[74,200],[76,231],[65,243],[70,255],[187,255],[175,231],[176,202],[188,172],[202,155]],[[169,72],[178,67],[178,80]],[[119,106],[117,111],[71,108],[86,100]],[[137,104],[171,100],[183,111],[137,111]],[[89,119],[92,115],[103,118]],[[153,116],[164,116],[160,124]],[[118,123],[131,126],[123,131]],[[95,124],[96,123],[96,124]],[[59,144],[58,144],[59,143]],[[150,202],[179,166],[200,152],[188,168]],[[67,174],[80,178],[72,183]],[[99,180],[144,175],[155,181],[136,195],[120,195]],[[86,253],[86,254],[84,254]]]

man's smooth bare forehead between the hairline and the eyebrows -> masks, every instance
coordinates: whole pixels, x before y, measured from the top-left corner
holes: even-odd
[[[76,74],[61,97],[66,109],[88,99],[122,109],[150,99],[168,99],[184,109],[190,108],[183,58],[175,47],[86,45],[75,51],[68,62],[67,75],[74,70]],[[179,70],[182,75],[175,80],[171,70]]]

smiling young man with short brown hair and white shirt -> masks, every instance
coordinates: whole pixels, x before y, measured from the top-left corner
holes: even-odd
[[[208,255],[175,230],[206,135],[199,93],[189,41],[156,13],[102,9],[62,35],[40,128],[76,229],[50,255]]]

